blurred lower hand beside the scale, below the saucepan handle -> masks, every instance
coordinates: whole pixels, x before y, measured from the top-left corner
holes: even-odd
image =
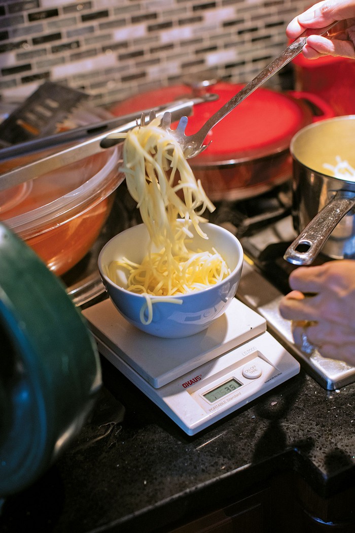
[[[299,267],[290,287],[279,309],[293,321],[295,343],[301,346],[306,334],[321,356],[355,366],[355,261]]]

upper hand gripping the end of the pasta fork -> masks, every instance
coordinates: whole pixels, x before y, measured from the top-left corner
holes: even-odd
[[[290,39],[299,37],[304,30],[324,28],[339,20],[332,28],[332,39],[310,35],[303,47],[307,59],[324,55],[355,59],[355,0],[323,0],[295,17],[286,28]]]

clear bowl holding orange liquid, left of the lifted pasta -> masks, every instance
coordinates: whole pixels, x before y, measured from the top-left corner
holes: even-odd
[[[27,195],[23,185],[0,192],[0,220],[60,276],[95,243],[122,180],[117,154],[101,152],[38,177]]]

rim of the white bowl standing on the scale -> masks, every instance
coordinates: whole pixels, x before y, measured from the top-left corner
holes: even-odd
[[[100,272],[100,276],[105,280],[106,283],[108,283],[109,285],[111,285],[113,288],[118,288],[119,290],[122,290],[122,292],[124,294],[129,294],[133,297],[137,297],[138,299],[141,299],[143,300],[144,302],[146,301],[146,298],[149,297],[150,300],[154,301],[154,298],[156,298],[156,300],[158,300],[159,302],[161,303],[169,303],[168,301],[167,302],[164,302],[164,298],[167,298],[167,300],[171,300],[171,299],[176,299],[176,300],[180,300],[181,298],[189,298],[189,297],[193,297],[195,296],[196,294],[199,294],[199,293],[207,293],[209,292],[210,290],[215,290],[216,288],[218,288],[219,286],[221,286],[222,284],[225,284],[226,281],[228,281],[228,279],[230,279],[239,269],[242,268],[243,266],[243,260],[244,260],[244,251],[243,251],[243,247],[242,247],[242,244],[240,242],[240,240],[235,236],[233,235],[232,232],[228,231],[226,228],[223,228],[222,226],[219,226],[218,224],[214,224],[213,222],[201,222],[200,223],[200,226],[203,228],[205,227],[206,225],[208,226],[212,226],[214,228],[218,228],[218,231],[221,231],[222,233],[226,233],[228,236],[232,237],[233,240],[235,240],[236,242],[236,245],[237,245],[237,248],[240,252],[240,256],[238,257],[238,261],[237,261],[237,264],[235,266],[235,268],[230,272],[230,274],[228,274],[228,276],[224,279],[222,279],[221,281],[218,281],[216,284],[214,285],[210,285],[208,287],[205,287],[203,289],[199,289],[199,290],[194,290],[193,292],[191,293],[186,293],[186,294],[176,294],[176,295],[172,295],[172,296],[156,296],[156,295],[153,295],[153,294],[138,294],[138,293],[134,293],[132,292],[131,290],[128,290],[126,289],[125,287],[121,287],[120,285],[117,285],[115,284],[108,276],[106,276],[106,274],[104,273],[103,269],[102,269],[102,266],[101,266],[101,263],[102,263],[102,256],[104,254],[104,251],[105,249],[110,245],[110,243],[112,243],[112,241],[114,241],[115,239],[118,238],[118,236],[121,236],[123,233],[126,233],[132,229],[136,229],[137,227],[141,227],[141,228],[146,228],[145,224],[142,223],[142,224],[137,224],[135,226],[132,226],[130,228],[127,228],[126,230],[123,230],[121,231],[120,233],[117,233],[117,235],[115,235],[114,237],[112,237],[101,249],[101,252],[100,254],[98,255],[98,259],[97,259],[97,266],[98,266],[98,271]]]

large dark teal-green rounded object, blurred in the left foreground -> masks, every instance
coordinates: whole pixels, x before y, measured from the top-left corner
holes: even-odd
[[[0,497],[28,487],[101,387],[96,344],[65,287],[0,222]]]

